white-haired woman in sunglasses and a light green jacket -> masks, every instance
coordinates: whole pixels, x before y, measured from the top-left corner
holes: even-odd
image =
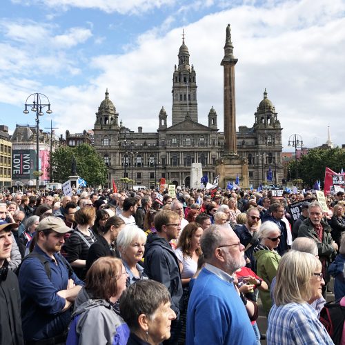
[[[257,232],[260,243],[254,248],[254,257],[257,260],[257,275],[264,279],[268,288],[273,278],[277,275],[280,255],[275,248],[279,245],[281,233],[277,224],[273,221],[265,221]],[[266,316],[272,306],[270,291],[259,290],[260,299]]]

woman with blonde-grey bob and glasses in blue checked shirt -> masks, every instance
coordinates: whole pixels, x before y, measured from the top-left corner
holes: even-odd
[[[333,344],[310,305],[322,297],[324,284],[317,257],[296,250],[284,254],[268,315],[267,344]]]

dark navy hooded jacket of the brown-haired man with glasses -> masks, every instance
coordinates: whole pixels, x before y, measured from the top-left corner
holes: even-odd
[[[179,315],[182,297],[179,262],[168,241],[150,234],[145,245],[144,270],[150,279],[164,284],[171,296],[171,308]]]

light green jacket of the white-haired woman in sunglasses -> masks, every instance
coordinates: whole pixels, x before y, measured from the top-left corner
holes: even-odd
[[[266,316],[268,316],[272,306],[272,300],[270,299],[270,283],[277,275],[280,255],[276,251],[262,249],[254,253],[254,257],[257,259],[257,275],[264,279],[268,285],[267,291],[259,290],[262,306],[264,307]]]

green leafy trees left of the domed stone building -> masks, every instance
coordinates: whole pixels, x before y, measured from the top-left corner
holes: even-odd
[[[66,182],[71,175],[72,157],[77,163],[77,175],[85,179],[89,186],[106,184],[107,167],[93,146],[81,144],[76,147],[60,146],[52,153],[54,181]]]

